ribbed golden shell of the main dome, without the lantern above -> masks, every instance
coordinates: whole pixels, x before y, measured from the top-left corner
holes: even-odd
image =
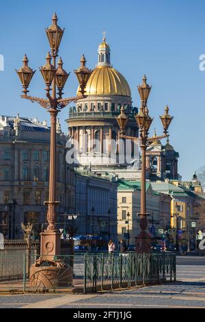
[[[98,66],[93,71],[85,88],[85,95],[131,96],[128,82],[111,66]],[[79,95],[79,89],[77,91]]]

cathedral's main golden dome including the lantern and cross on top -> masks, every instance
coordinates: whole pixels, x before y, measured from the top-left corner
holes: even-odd
[[[85,88],[85,95],[122,95],[131,97],[131,89],[122,74],[110,63],[110,47],[103,38],[98,47],[98,65]],[[79,95],[79,89],[77,91]]]

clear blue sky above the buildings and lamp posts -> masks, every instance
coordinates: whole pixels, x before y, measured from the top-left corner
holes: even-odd
[[[166,104],[174,121],[170,143],[180,153],[179,173],[191,179],[195,170],[205,165],[205,71],[199,69],[205,54],[204,0],[1,0],[0,54],[5,71],[0,72],[2,115],[38,117],[49,120],[49,113],[38,104],[20,99],[21,86],[14,72],[22,65],[23,55],[37,69],[30,86],[31,95],[44,95],[44,82],[38,67],[44,65],[49,43],[44,27],[51,25],[53,12],[65,27],[60,55],[66,71],[79,67],[82,54],[87,66],[97,63],[97,49],[102,32],[107,32],[111,62],[130,84],[133,105],[139,106],[137,84],[143,73],[152,84],[150,115],[158,134],[162,128],[159,115]],[[77,79],[68,79],[66,97],[75,95]],[[61,111],[62,128],[68,109]]]

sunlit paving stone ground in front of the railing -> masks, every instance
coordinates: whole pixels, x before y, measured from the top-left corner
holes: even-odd
[[[0,308],[205,308],[205,266],[177,266],[177,281],[98,295],[0,296]]]

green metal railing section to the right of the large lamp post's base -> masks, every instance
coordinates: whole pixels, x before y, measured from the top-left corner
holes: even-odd
[[[176,280],[175,254],[111,253],[85,255],[84,291]]]

